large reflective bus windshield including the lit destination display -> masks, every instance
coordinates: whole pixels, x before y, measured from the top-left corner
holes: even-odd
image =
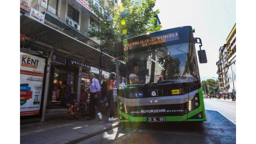
[[[119,75],[126,78],[128,85],[138,86],[200,81],[190,33],[190,28],[182,28],[120,42],[117,46],[124,50],[118,59],[125,64]]]

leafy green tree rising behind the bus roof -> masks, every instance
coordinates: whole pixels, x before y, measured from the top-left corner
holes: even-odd
[[[154,16],[160,12],[159,10],[153,11],[155,2],[156,0],[142,0],[141,5],[138,5],[136,0],[122,0],[122,4],[118,6],[110,2],[106,7],[98,7],[88,1],[89,7],[98,17],[100,30],[98,31],[93,23],[90,24],[88,30],[84,30],[88,32],[89,38],[96,37],[101,40],[101,44],[96,48],[114,51],[116,42],[162,28],[161,25],[155,24]],[[99,4],[103,6],[104,0],[100,0]]]

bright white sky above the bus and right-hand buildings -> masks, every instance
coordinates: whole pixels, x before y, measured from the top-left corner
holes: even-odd
[[[162,28],[192,26],[194,37],[201,38],[202,50],[206,51],[208,62],[198,67],[200,78],[216,80],[219,49],[236,24],[236,0],[156,0],[154,10],[159,9]],[[200,44],[196,44],[196,51]]]

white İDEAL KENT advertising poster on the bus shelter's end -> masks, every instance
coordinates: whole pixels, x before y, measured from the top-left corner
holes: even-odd
[[[20,116],[40,114],[45,62],[20,52]]]

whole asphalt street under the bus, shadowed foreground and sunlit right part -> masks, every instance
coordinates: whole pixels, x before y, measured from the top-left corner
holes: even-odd
[[[207,121],[124,123],[77,144],[235,144],[236,103],[204,99]]]

